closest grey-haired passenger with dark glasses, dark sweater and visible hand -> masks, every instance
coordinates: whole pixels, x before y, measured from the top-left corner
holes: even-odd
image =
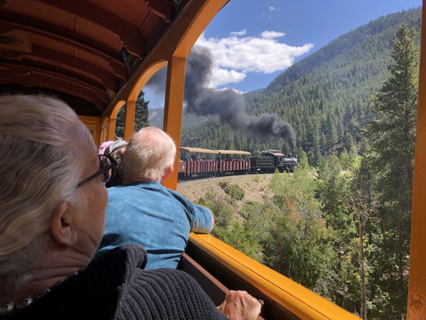
[[[115,163],[97,154],[89,131],[65,103],[0,97],[0,146],[0,317],[254,319],[259,314],[260,303],[247,292],[231,291],[216,308],[184,272],[143,270],[146,252],[137,245],[90,262],[104,230],[105,182]]]

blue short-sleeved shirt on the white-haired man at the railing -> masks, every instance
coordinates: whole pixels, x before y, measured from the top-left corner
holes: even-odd
[[[96,256],[124,243],[139,243],[148,253],[145,269],[176,268],[189,232],[209,233],[212,222],[209,209],[157,181],[110,187]]]

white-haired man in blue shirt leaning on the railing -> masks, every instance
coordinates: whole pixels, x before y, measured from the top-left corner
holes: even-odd
[[[108,188],[98,255],[134,242],[148,252],[147,269],[176,268],[189,232],[212,230],[209,209],[161,185],[173,172],[175,154],[176,145],[163,130],[146,127],[133,135],[123,154],[124,184]]]

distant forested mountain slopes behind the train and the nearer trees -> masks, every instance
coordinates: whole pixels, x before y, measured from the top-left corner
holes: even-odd
[[[420,8],[380,17],[298,61],[266,89],[246,94],[247,111],[276,113],[290,122],[297,136],[296,152],[304,150],[311,165],[318,165],[329,150],[354,148],[373,118],[370,96],[387,78],[392,40],[403,23],[418,31],[419,44]],[[222,128],[215,119],[183,129],[181,143],[254,153],[286,147],[279,139],[260,141]]]

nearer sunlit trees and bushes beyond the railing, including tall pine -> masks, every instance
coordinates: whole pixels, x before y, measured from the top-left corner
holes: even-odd
[[[294,174],[276,172],[262,203],[237,206],[244,189],[224,183],[225,198],[208,192],[199,199],[215,214],[215,236],[363,319],[407,313],[416,43],[415,28],[402,24],[381,87],[359,109],[369,113],[359,140],[321,153],[318,176],[309,173],[302,148]]]

